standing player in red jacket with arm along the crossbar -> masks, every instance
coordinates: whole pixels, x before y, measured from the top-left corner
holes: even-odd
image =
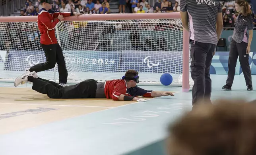
[[[38,14],[38,28],[41,33],[41,47],[45,52],[46,62],[41,64],[36,64],[29,69],[30,72],[41,72],[54,68],[55,64],[58,64],[59,72],[59,84],[61,86],[66,86],[68,72],[66,69],[66,62],[62,53],[62,49],[57,42],[55,36],[55,26],[63,20],[64,17],[72,15],[81,15],[81,13],[69,12],[62,13],[52,10],[52,0],[41,0],[41,5],[43,8]],[[54,20],[54,18],[57,18]]]

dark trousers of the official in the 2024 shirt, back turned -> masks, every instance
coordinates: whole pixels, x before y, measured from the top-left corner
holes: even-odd
[[[210,100],[211,78],[210,66],[216,45],[211,43],[200,43],[190,40],[190,57],[192,59],[190,69],[194,80],[192,88],[192,104],[200,99]]]

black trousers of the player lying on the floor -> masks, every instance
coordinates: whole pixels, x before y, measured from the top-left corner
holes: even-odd
[[[97,81],[94,79],[87,79],[67,87],[62,87],[58,83],[40,77],[29,76],[28,81],[33,82],[33,90],[47,94],[49,98],[95,98],[97,88]]]

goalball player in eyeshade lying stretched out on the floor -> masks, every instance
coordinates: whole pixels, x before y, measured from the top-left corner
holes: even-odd
[[[14,86],[32,82],[32,89],[47,94],[49,98],[112,98],[113,100],[124,101],[146,101],[137,96],[159,97],[174,96],[171,92],[147,91],[137,85],[139,83],[138,72],[128,70],[122,79],[114,79],[105,82],[97,82],[94,79],[87,79],[76,85],[62,87],[58,83],[41,79],[35,72],[25,72],[17,77]]]

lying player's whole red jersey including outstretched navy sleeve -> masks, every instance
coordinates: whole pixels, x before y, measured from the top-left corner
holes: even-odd
[[[104,92],[106,98],[112,98],[113,100],[118,100],[121,94],[127,96],[152,97],[152,91],[147,91],[138,86],[127,89],[127,84],[124,79],[106,81]]]

